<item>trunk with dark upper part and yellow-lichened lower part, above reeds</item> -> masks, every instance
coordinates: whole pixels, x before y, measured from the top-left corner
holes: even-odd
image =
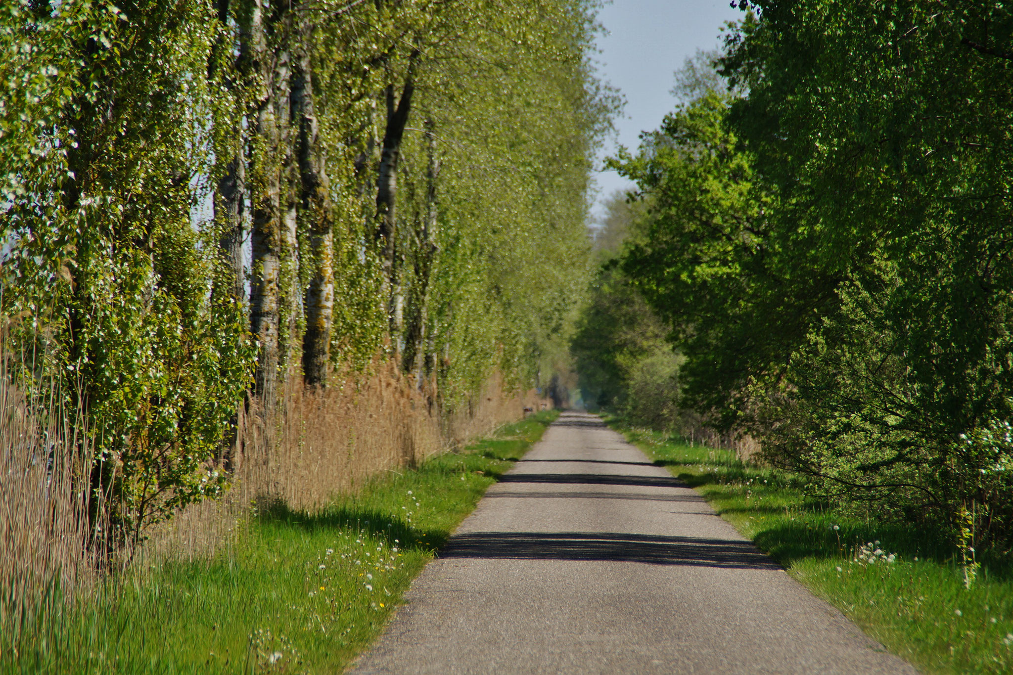
[[[296,65],[292,98],[299,123],[301,216],[309,240],[311,265],[304,301],[303,376],[309,387],[326,387],[334,308],[333,217],[326,161],[313,107],[313,72],[305,49]]]

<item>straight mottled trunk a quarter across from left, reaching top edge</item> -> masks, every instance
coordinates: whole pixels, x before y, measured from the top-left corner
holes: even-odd
[[[267,54],[263,2],[253,0],[250,48],[258,77],[251,123],[250,202],[252,203],[252,265],[250,331],[259,343],[254,388],[264,409],[275,407],[278,383],[279,282],[281,273],[281,181],[277,163],[278,125],[274,104],[274,69]]]

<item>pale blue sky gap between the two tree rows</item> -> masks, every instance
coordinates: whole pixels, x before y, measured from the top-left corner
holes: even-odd
[[[617,138],[599,151],[598,165],[616,150],[616,143],[630,150],[639,145],[640,132],[657,129],[674,107],[669,93],[673,72],[698,49],[720,44],[720,29],[728,20],[742,18],[729,0],[613,0],[602,8],[599,22],[599,77],[617,87],[626,98],[623,115],[616,119]],[[632,187],[615,171],[596,173],[599,186],[593,214],[601,214],[602,200],[617,189]]]

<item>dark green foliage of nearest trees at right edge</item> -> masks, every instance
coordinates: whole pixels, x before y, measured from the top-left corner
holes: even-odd
[[[986,535],[1009,493],[961,435],[1010,415],[1011,30],[1001,6],[772,3],[725,62],[791,259],[837,277],[785,345],[797,413],[775,443],[915,515],[985,503]]]

